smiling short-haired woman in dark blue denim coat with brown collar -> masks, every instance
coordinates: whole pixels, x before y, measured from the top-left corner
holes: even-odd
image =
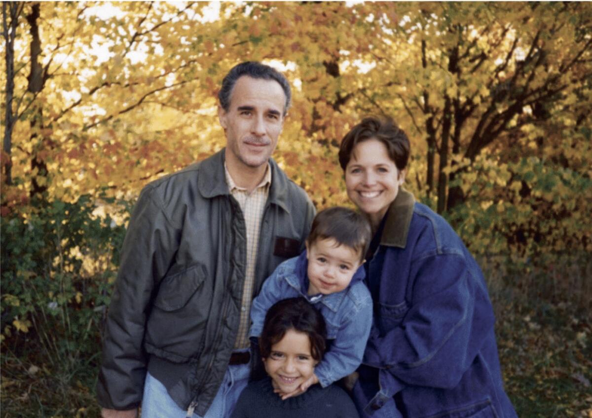
[[[356,407],[373,417],[516,417],[481,270],[451,226],[400,188],[409,153],[406,134],[377,118],[339,149],[348,196],[374,235],[365,265],[374,321]]]

